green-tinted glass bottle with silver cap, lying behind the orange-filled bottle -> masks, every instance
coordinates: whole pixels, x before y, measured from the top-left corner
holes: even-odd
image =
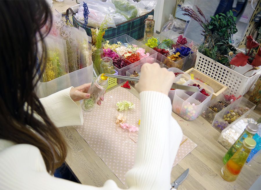
[[[226,164],[229,159],[235,154],[235,152],[242,146],[242,142],[245,138],[252,138],[258,131],[258,126],[254,123],[248,123],[245,130],[238,137],[238,140],[229,148],[227,153],[223,157],[223,163]]]

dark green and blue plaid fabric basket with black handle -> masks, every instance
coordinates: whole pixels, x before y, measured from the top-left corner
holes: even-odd
[[[73,15],[75,15],[75,12],[71,9],[68,8],[66,11],[66,15],[69,15],[69,10],[72,12]],[[154,10],[152,10],[151,12],[147,13],[146,15],[142,15],[139,16],[135,19],[131,19],[128,20],[126,22],[123,22],[121,24],[117,24],[116,27],[117,28],[108,28],[105,31],[105,35],[104,35],[104,40],[110,40],[112,38],[127,34],[128,36],[133,37],[135,40],[139,40],[141,38],[144,37],[144,28],[145,28],[145,24],[144,24],[144,20],[148,17],[148,15],[154,15]],[[75,17],[73,16],[73,24],[75,27],[79,28],[83,27],[83,25],[77,21],[75,19]],[[85,31],[87,33],[87,35],[91,36],[91,27],[86,26]]]

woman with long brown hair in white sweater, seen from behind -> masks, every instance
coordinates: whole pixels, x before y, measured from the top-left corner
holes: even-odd
[[[40,68],[46,64],[48,32],[41,29],[52,23],[46,1],[0,1],[0,15],[0,189],[98,189],[52,175],[66,157],[57,127],[82,125],[79,100],[89,97],[90,84],[36,96]],[[39,44],[43,54],[38,61]],[[144,64],[141,72],[135,86],[142,104],[139,142],[126,181],[130,189],[170,189],[182,139],[167,96],[175,75],[156,63]],[[119,188],[108,180],[99,189]]]

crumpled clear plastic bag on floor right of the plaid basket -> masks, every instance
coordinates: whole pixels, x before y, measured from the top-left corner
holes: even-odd
[[[169,15],[169,21],[164,24],[161,29],[161,32],[166,32],[172,30],[177,33],[182,33],[186,26],[186,22],[180,19],[174,19],[173,15]]]

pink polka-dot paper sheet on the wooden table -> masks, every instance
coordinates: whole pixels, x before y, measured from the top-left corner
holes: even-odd
[[[116,103],[123,100],[133,102],[135,108],[127,112],[118,112]],[[138,126],[141,114],[140,101],[122,87],[107,92],[101,106],[95,106],[91,112],[84,112],[83,126],[75,126],[75,129],[102,158],[111,171],[125,184],[125,173],[134,165],[137,144],[129,138],[127,130],[119,127],[116,130],[115,121],[118,113],[127,116],[126,123]],[[138,132],[131,132],[133,140],[137,141],[137,137]],[[186,138],[186,136],[183,136],[182,141]],[[196,146],[194,142],[187,139],[180,146],[173,166]]]

